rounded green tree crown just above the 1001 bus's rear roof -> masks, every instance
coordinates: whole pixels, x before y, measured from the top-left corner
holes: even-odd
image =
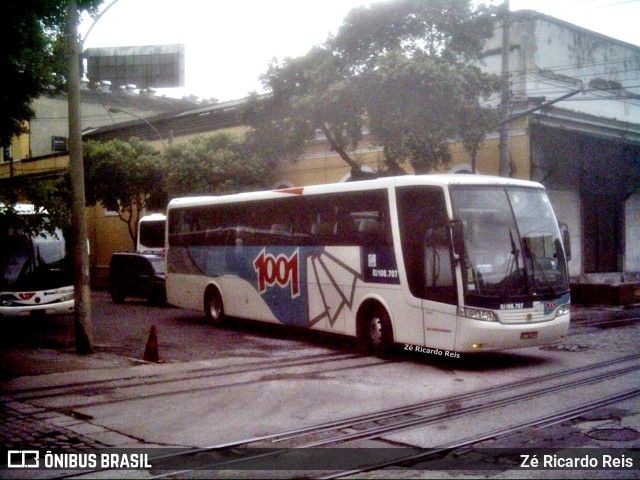
[[[269,180],[270,163],[225,132],[172,145],[165,158],[170,197],[257,190]]]

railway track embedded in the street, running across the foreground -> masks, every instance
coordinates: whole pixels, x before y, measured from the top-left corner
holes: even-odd
[[[554,374],[538,376],[510,382],[503,385],[475,390],[460,395],[454,395],[441,399],[428,400],[392,408],[378,412],[344,418],[332,422],[317,424],[305,428],[277,432],[269,435],[244,438],[237,441],[211,445],[207,448],[190,450],[186,453],[165,455],[162,458],[152,459],[154,468],[151,478],[164,477],[188,477],[193,469],[173,468],[173,464],[181,464],[185,458],[201,454],[198,461],[198,469],[211,470],[247,470],[247,465],[275,465],[274,462],[286,460],[287,455],[300,455],[309,449],[335,449],[355,448],[363,445],[363,441],[377,442],[381,448],[390,452],[390,459],[384,461],[363,461],[363,465],[357,468],[331,469],[335,471],[305,471],[302,476],[318,478],[338,478],[356,473],[377,470],[393,465],[415,463],[424,461],[434,455],[442,454],[456,448],[462,448],[488,438],[508,435],[514,432],[530,428],[561,422],[584,412],[602,408],[612,403],[620,402],[628,398],[640,395],[640,385],[634,385],[622,391],[603,395],[589,401],[575,403],[550,412],[541,412],[538,415],[529,415],[518,422],[495,422],[491,428],[484,428],[466,434],[457,434],[448,441],[429,445],[428,449],[400,449],[399,454],[393,455],[393,446],[400,443],[396,438],[407,432],[421,432],[425,429],[433,431],[438,426],[455,425],[455,422],[466,421],[473,423],[482,415],[497,416],[495,412],[519,405],[526,410],[527,402],[535,402],[540,399],[548,399],[547,403],[553,403],[552,399],[557,395],[566,395],[569,392],[580,392],[580,389],[593,389],[596,385],[611,382],[628,377],[637,377],[640,368],[640,355],[629,355],[599,362],[591,365],[557,372]],[[637,383],[637,382],[636,382]],[[454,407],[452,407],[452,405]],[[465,420],[472,418],[474,420]],[[367,444],[371,446],[371,444]],[[410,441],[405,445],[412,445]],[[204,460],[202,459],[204,458]],[[205,462],[204,464],[202,462]],[[210,463],[206,463],[210,462]],[[271,464],[269,463],[271,462]],[[188,464],[188,462],[187,462]],[[277,468],[274,468],[277,470]],[[301,475],[298,472],[298,477]],[[81,477],[76,474],[74,476]]]

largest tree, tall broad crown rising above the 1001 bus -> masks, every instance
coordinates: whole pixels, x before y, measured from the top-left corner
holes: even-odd
[[[405,162],[420,173],[446,165],[449,141],[477,150],[491,123],[480,100],[497,90],[498,78],[477,63],[492,32],[488,11],[469,0],[354,9],[323,45],[272,62],[263,76],[270,94],[250,103],[247,138],[256,151],[297,158],[320,130],[357,174],[349,151],[368,128],[383,148],[384,173],[403,172]]]

